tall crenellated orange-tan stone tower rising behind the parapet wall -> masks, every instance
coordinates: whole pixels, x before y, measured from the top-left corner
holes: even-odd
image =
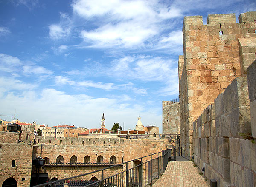
[[[256,12],[239,17],[236,23],[234,14],[212,14],[207,25],[201,16],[184,17],[180,139],[186,158],[192,156],[193,122],[236,77],[246,75],[253,54],[255,59]]]

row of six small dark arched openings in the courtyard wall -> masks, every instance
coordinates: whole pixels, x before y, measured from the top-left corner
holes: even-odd
[[[45,160],[45,164],[49,164],[50,163],[50,160],[49,158],[47,157],[44,157],[44,160]],[[91,158],[89,155],[87,156],[84,156],[84,163],[90,163],[91,162]],[[104,158],[103,156],[98,156],[97,157],[97,163],[103,163],[104,162]],[[57,164],[61,164],[61,163],[64,163],[64,158],[62,155],[59,155],[56,159],[56,163]],[[77,163],[77,156],[76,155],[73,155],[71,156],[70,158],[70,164],[76,164]],[[116,156],[112,155],[109,159],[109,163],[110,164],[116,164]]]

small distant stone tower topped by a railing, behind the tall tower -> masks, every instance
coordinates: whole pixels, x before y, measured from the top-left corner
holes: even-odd
[[[163,134],[180,133],[179,102],[163,101]]]

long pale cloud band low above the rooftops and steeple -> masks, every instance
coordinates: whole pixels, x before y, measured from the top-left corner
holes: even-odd
[[[129,100],[129,97],[93,98],[85,94],[69,95],[55,89],[44,89],[40,94],[35,91],[26,91],[20,95],[0,93],[2,108],[8,106],[5,113],[14,113],[15,108],[18,119],[22,122],[36,121],[38,124],[46,123],[49,126],[75,124],[95,128],[100,125],[104,111],[108,129],[111,129],[114,122],[119,122],[120,125],[125,123],[125,129],[133,129],[138,115],[142,117],[143,125],[161,125],[158,109],[146,110],[142,105],[129,105],[125,99]]]

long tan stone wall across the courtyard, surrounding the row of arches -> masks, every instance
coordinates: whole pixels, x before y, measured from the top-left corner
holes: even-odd
[[[122,161],[133,160],[142,156],[147,156],[152,153],[160,152],[166,149],[168,140],[160,139],[124,139],[124,138],[58,138],[53,137],[36,137],[38,144],[44,144],[42,147],[42,157],[47,157],[50,162],[56,162],[59,155],[63,156],[64,163],[70,162],[72,156],[77,157],[77,162],[84,162],[85,156],[90,156],[90,162],[97,162],[98,156],[103,156],[103,162],[110,162],[110,157],[116,157],[116,164]],[[40,156],[41,146],[38,146],[34,151],[34,157]],[[147,161],[150,157],[143,159]],[[128,167],[134,167],[131,162]],[[67,178],[76,176],[81,173],[88,173],[92,170],[99,170],[103,167],[44,167],[41,172],[48,173],[49,178]],[[104,177],[111,176],[123,170],[123,167],[118,167],[106,171]],[[93,176],[101,178],[100,173],[87,176],[84,179],[90,179]]]

